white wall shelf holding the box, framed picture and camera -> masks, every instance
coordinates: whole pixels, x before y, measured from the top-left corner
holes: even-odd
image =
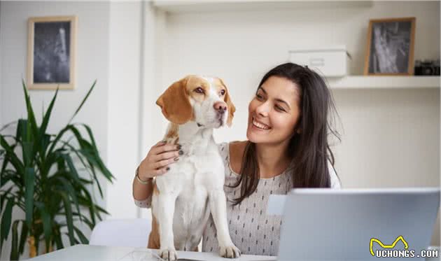
[[[440,76],[346,76],[328,78],[331,89],[440,88]]]

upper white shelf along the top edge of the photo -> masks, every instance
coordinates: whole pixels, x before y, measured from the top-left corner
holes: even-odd
[[[370,1],[293,1],[293,0],[154,0],[153,6],[169,13],[286,10],[290,8],[363,8],[372,6]]]

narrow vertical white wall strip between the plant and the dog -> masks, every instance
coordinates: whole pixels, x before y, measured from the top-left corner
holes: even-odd
[[[107,188],[109,218],[137,216],[131,193],[141,119],[141,2],[110,3],[108,164],[116,177]]]

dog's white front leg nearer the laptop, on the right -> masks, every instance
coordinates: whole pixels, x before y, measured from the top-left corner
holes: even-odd
[[[238,258],[239,248],[232,243],[227,222],[227,202],[223,189],[210,192],[210,211],[218,234],[219,255],[223,258]]]

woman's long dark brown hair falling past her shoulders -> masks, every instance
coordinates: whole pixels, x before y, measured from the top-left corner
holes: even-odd
[[[328,137],[338,132],[332,128],[337,115],[332,94],[325,81],[315,71],[293,63],[280,64],[268,71],[259,87],[272,76],[286,78],[300,89],[300,117],[291,137],[287,155],[291,157],[288,168],[293,188],[330,188],[328,161],[334,166],[335,159],[328,144]],[[335,112],[335,115],[334,115]],[[300,129],[300,134],[297,133]],[[233,199],[237,205],[253,194],[258,186],[260,172],[255,143],[248,141],[240,169],[240,178],[232,188],[241,186],[240,196]]]

